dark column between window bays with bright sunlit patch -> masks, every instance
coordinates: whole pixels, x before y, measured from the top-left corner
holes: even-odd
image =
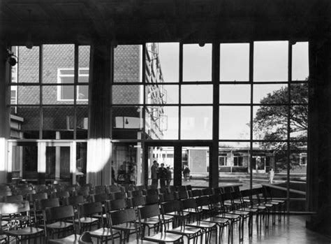
[[[94,44],[91,46],[87,182],[93,185],[111,184],[111,57],[110,45]]]

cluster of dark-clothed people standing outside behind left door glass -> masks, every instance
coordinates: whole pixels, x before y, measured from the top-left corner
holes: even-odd
[[[153,165],[151,166],[151,178],[152,185],[158,187],[160,180],[160,187],[168,187],[171,182],[171,170],[170,167],[167,166],[165,168],[164,164],[159,166],[159,163],[154,160]]]

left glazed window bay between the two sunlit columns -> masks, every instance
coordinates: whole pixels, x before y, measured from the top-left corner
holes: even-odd
[[[13,148],[20,150],[13,157],[13,165],[23,164],[20,172],[23,178],[37,178],[37,165],[43,157],[30,157],[31,153],[27,156],[25,148],[33,148],[37,139],[43,140],[41,143],[76,139],[83,140],[77,143],[84,143],[87,140],[90,48],[63,44],[31,49],[16,46],[13,50],[18,62],[11,71],[10,137],[13,141],[28,143],[24,148]],[[41,143],[38,147],[43,147]],[[79,167],[86,167],[86,157],[80,157],[82,147],[74,148],[78,150],[75,158],[85,161],[79,162]],[[70,177],[73,172],[69,163],[74,158],[71,154],[76,153],[71,152],[72,149],[69,144],[45,148],[43,173],[46,178]],[[37,151],[39,153],[40,148],[34,152]],[[25,157],[34,162],[27,162]]]

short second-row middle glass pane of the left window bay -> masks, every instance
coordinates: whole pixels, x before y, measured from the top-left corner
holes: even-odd
[[[43,104],[73,104],[73,85],[43,86]]]

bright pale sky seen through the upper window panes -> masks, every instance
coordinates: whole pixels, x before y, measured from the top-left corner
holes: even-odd
[[[179,80],[179,43],[160,43],[159,58],[165,82]],[[249,44],[226,43],[220,48],[220,80],[237,81],[238,85],[220,85],[220,103],[250,103],[250,85],[240,85],[249,80]],[[292,80],[305,80],[309,75],[308,43],[293,45]],[[212,45],[198,44],[183,47],[183,80],[212,80]],[[254,43],[253,80],[288,80],[288,42],[267,41]],[[253,103],[260,103],[267,93],[284,87],[282,85],[256,84],[253,87]],[[178,103],[178,85],[165,87],[168,103]],[[211,85],[182,86],[182,103],[212,103]],[[165,108],[168,115],[168,131],[164,138],[177,138],[178,109]],[[220,138],[249,139],[249,106],[221,106]],[[207,107],[182,108],[182,138],[212,138],[212,110]]]

